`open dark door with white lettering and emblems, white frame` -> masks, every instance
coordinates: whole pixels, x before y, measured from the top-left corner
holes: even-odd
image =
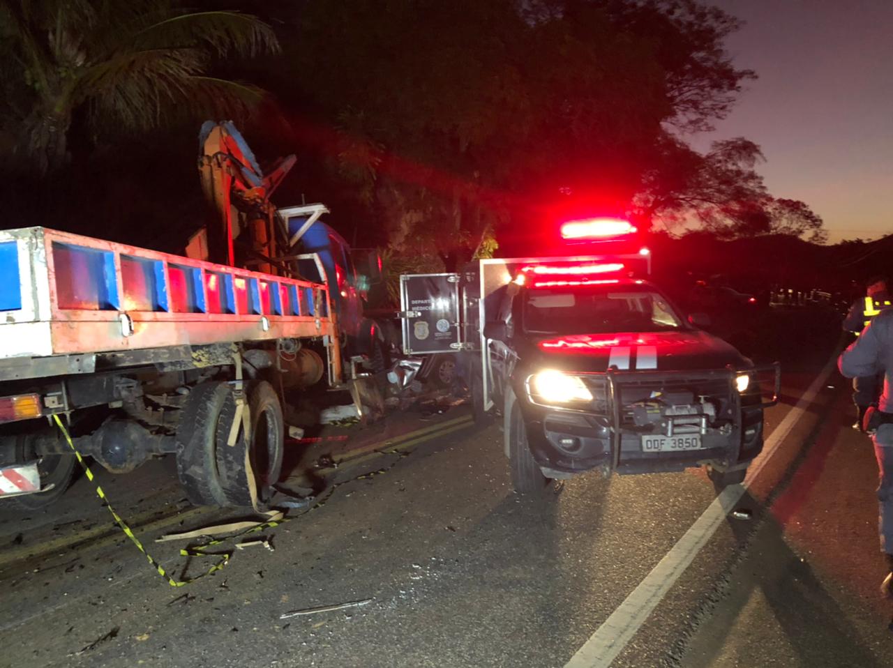
[[[401,276],[400,310],[406,355],[455,353],[462,349],[458,274]]]

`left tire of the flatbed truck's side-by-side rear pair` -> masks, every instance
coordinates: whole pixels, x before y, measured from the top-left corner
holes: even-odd
[[[180,415],[177,475],[194,505],[227,505],[217,470],[217,432],[221,422],[232,422],[223,415],[228,404],[234,413],[235,400],[228,383],[205,382],[192,388]]]

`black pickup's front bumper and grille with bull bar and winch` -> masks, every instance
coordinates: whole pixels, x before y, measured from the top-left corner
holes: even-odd
[[[739,392],[736,378],[753,378]],[[764,401],[757,379],[773,375]],[[763,409],[780,390],[778,363],[747,370],[582,373],[593,400],[578,408],[539,401],[530,376],[515,389],[530,453],[551,478],[605,472],[679,471],[709,463],[745,468],[763,449]]]

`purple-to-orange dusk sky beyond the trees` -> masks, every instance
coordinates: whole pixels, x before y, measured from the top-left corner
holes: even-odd
[[[714,138],[762,146],[772,195],[810,205],[832,243],[893,233],[893,2],[713,4],[746,21],[727,46],[759,76]]]

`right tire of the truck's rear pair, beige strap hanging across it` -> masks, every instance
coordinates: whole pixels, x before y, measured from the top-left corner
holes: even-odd
[[[239,432],[236,445],[227,445],[232,418],[236,414],[235,401],[231,401],[224,411],[229,420],[222,420],[218,425],[217,467],[223,494],[229,505],[250,506],[252,503],[245,467],[246,447],[255,474],[259,505],[270,501],[273,486],[279,482],[282,472],[285,419],[280,398],[270,383],[262,381],[248,388],[248,409],[251,415],[250,438],[246,438],[243,429]]]

